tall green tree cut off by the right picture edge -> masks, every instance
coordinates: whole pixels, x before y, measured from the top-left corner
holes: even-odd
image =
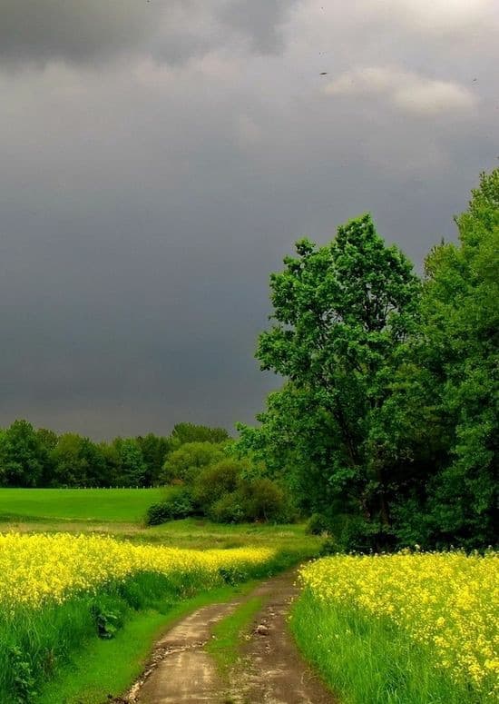
[[[420,362],[431,372],[449,460],[429,496],[435,541],[495,540],[499,449],[499,169],[482,174],[457,243],[426,259]]]

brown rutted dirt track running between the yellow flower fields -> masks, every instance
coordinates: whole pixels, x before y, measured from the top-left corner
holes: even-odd
[[[129,704],[333,704],[335,699],[304,663],[289,635],[286,617],[297,593],[287,572],[249,594],[263,599],[228,679],[205,651],[213,625],[245,598],[195,611],[165,634],[149,668],[122,699]]]

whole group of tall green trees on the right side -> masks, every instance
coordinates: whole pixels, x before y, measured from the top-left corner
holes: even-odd
[[[297,243],[270,278],[264,370],[286,382],[238,450],[343,550],[497,540],[499,170],[423,277],[369,215]]]

